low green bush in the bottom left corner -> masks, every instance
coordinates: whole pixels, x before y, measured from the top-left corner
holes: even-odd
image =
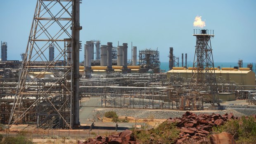
[[[17,137],[5,137],[4,144],[33,144],[31,139],[27,139],[24,136],[17,136]]]

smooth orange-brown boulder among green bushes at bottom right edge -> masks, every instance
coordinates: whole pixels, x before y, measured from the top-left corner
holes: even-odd
[[[211,135],[211,144],[235,144],[235,140],[228,132],[221,132],[220,134]]]

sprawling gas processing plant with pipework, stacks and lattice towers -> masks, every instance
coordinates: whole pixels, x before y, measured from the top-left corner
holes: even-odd
[[[191,30],[192,67],[187,53],[180,65],[175,47],[166,47],[164,72],[159,60],[164,54],[157,48],[81,40],[80,2],[38,0],[22,61],[7,59],[9,47],[1,42],[0,123],[8,128],[78,129],[79,109],[88,97],[98,97],[102,108],[121,109],[225,110],[223,102],[236,99],[256,105],[255,73],[242,59],[235,67],[214,64],[211,39],[218,31]]]

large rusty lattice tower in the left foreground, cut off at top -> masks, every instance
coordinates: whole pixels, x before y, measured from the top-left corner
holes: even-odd
[[[71,128],[79,123],[80,0],[38,0],[19,85],[13,124]],[[54,59],[48,56],[55,47]]]

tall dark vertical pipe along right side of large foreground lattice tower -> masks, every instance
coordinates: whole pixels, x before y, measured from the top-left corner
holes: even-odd
[[[79,48],[80,48],[80,34],[82,29],[80,26],[80,0],[73,0],[72,12],[72,60],[73,60],[73,120],[71,120],[72,127],[79,127]],[[71,116],[72,118],[72,116]]]

